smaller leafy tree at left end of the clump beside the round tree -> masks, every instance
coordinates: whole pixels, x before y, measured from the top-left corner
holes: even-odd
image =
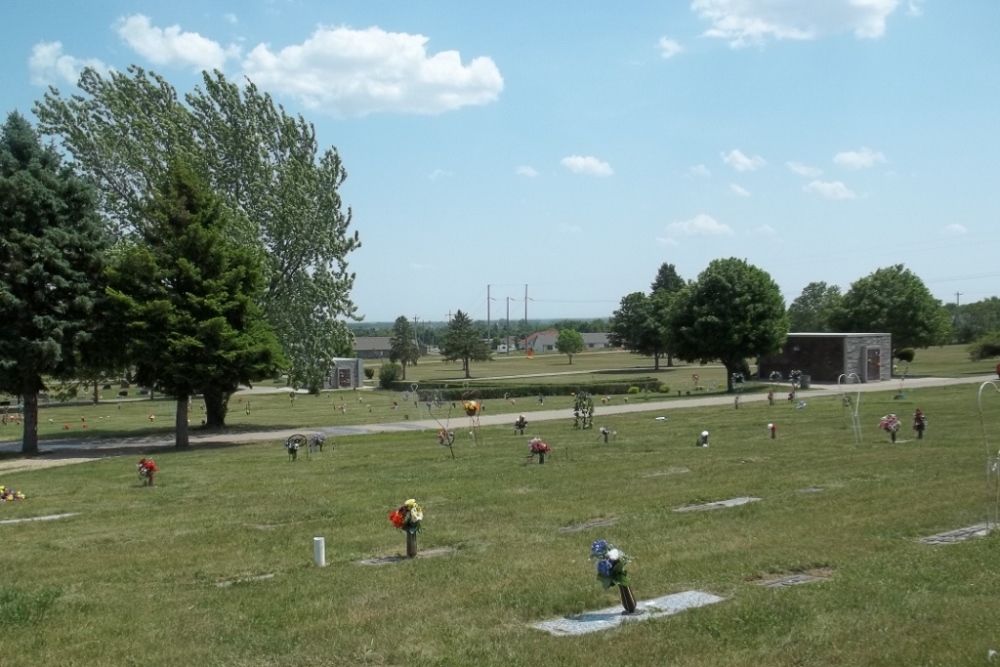
[[[667,327],[673,297],[665,290],[652,296],[633,292],[624,296],[611,315],[608,342],[634,354],[653,357],[653,368],[660,370],[660,358],[672,349]]]

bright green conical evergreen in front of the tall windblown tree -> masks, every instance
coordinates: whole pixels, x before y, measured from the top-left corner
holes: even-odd
[[[139,382],[177,400],[175,438],[188,445],[188,401],[273,377],[281,352],[254,297],[260,258],[230,241],[230,213],[183,162],[161,178],[140,237],[109,270],[109,295],[133,340]],[[225,406],[212,413],[225,414]],[[208,426],[221,426],[208,422]]]

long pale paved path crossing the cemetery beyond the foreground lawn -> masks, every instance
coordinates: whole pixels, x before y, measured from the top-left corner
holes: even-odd
[[[919,389],[921,387],[947,387],[963,384],[982,384],[983,382],[994,381],[1000,385],[995,375],[977,375],[964,378],[941,378],[922,377],[907,378],[905,388],[907,390]],[[869,382],[864,384],[845,385],[845,393],[855,394],[873,391],[894,391],[898,388],[897,381]],[[800,399],[837,396],[840,388],[836,384],[821,384],[810,389],[802,389],[798,392]],[[766,394],[754,393],[741,397],[744,403],[759,403],[767,400]],[[713,395],[699,396],[681,399],[670,399],[666,401],[643,401],[642,403],[625,403],[615,405],[602,405],[600,411],[605,414],[629,414],[633,412],[653,412],[663,410],[679,410],[684,408],[706,407],[713,405],[730,405],[733,402],[733,395]],[[568,419],[571,413],[566,408],[558,410],[539,410],[530,413],[531,421],[551,421],[556,419]],[[512,413],[480,415],[481,426],[509,426],[514,419]],[[330,427],[302,427],[299,429],[281,430],[261,430],[261,431],[240,431],[234,433],[208,433],[199,435],[192,433],[191,445],[226,445],[250,442],[264,442],[268,440],[285,440],[295,433],[325,433],[327,436],[350,436],[365,435],[369,433],[404,433],[415,431],[437,431],[441,428],[435,419],[416,419],[405,422],[392,422],[387,424],[359,424],[357,426],[330,426]],[[104,438],[86,441],[66,441],[50,440],[40,443],[48,448],[48,454],[44,457],[13,459],[10,461],[0,461],[0,474],[16,472],[18,470],[37,469],[53,465],[65,465],[67,463],[77,463],[100,458],[108,454],[108,450],[127,448],[155,448],[169,447],[174,444],[174,439],[170,435],[153,435],[145,437],[125,437],[125,438]],[[7,443],[0,445],[0,451],[18,452],[20,443]]]

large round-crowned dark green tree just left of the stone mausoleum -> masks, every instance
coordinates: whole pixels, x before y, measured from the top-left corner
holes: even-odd
[[[677,356],[726,367],[727,387],[748,357],[777,352],[788,335],[781,290],[766,271],[745,260],[712,261],[681,290],[670,315]]]

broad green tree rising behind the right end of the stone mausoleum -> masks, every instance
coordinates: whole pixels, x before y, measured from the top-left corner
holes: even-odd
[[[892,334],[892,356],[902,348],[945,343],[948,311],[923,281],[902,264],[878,269],[844,294],[832,323],[838,331]]]

